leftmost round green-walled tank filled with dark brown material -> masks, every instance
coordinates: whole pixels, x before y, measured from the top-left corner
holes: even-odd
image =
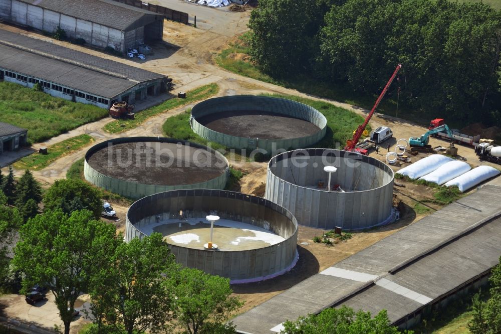
[[[164,137],[122,137],[92,146],[84,176],[115,194],[138,199],[176,189],[224,189],[226,158],[207,146]]]

